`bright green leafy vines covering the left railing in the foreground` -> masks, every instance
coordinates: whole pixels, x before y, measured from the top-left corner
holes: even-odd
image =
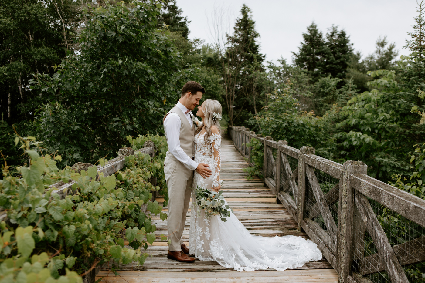
[[[111,258],[144,263],[147,253],[139,247],[146,249],[156,237],[150,215],[166,218],[158,202],[150,201],[152,192],[159,190],[150,179],[158,175],[161,163],[135,152],[125,157],[125,167],[116,175],[99,173],[96,178],[96,167],[80,173],[70,167],[58,170],[61,156],[45,154],[34,137],[16,138],[15,143],[22,144],[29,166],[17,168],[21,176],[11,175],[6,164],[2,167],[0,208],[7,222],[0,224],[1,277],[18,281],[38,273],[39,282],[77,283],[77,274]],[[77,182],[64,197],[49,187],[70,178]],[[147,215],[141,210],[144,204]],[[122,231],[134,249],[124,247]]]

